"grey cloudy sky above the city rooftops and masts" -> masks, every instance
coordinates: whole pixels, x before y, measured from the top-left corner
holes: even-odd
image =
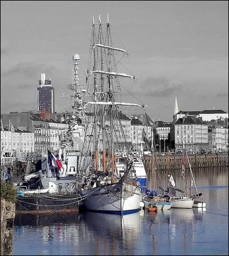
[[[42,72],[60,112],[74,53],[85,81],[100,14],[130,52],[152,119],[172,121],[175,96],[179,110],[228,112],[228,1],[1,1],[1,113],[35,110]],[[61,106],[69,111],[69,100]]]

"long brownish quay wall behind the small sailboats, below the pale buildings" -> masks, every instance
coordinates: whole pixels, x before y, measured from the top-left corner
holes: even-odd
[[[155,165],[160,170],[180,169],[182,167],[182,155],[179,156],[154,156]],[[204,154],[188,155],[191,168],[228,166],[228,154]],[[185,157],[186,166],[188,166]],[[145,170],[151,170],[152,156],[144,156]]]

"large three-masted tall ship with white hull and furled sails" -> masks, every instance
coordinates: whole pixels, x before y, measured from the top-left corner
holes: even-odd
[[[117,171],[116,152],[123,152],[131,142],[128,127],[120,122],[124,115],[121,107],[143,108],[144,104],[117,99],[121,96],[119,79],[135,80],[136,76],[117,71],[117,65],[128,52],[113,47],[109,19],[104,30],[101,18],[98,24],[93,18],[91,40],[85,90],[77,83],[74,90],[77,99],[79,94],[89,99],[83,106],[78,104],[74,111],[81,120],[80,126],[84,127],[84,141],[77,162],[78,193],[86,210],[131,214],[140,210],[140,184],[132,172],[134,160],[131,154],[125,159],[123,174]],[[121,56],[118,57],[118,53]],[[80,100],[82,103],[81,97]]]

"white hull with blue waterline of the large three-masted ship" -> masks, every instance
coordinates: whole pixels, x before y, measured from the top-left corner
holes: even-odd
[[[104,214],[132,214],[140,210],[140,188],[132,184],[111,184],[78,192],[83,207]]]

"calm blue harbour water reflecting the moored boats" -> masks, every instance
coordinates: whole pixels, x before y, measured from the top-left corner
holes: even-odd
[[[193,172],[207,203],[203,210],[17,214],[13,254],[228,255],[228,168]]]

